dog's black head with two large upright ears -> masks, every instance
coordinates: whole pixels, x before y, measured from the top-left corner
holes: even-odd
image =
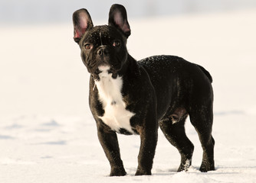
[[[86,9],[73,14],[74,41],[81,50],[81,58],[90,74],[100,73],[100,66],[117,73],[128,56],[126,40],[130,36],[130,25],[123,5],[112,5],[108,25],[95,26]]]

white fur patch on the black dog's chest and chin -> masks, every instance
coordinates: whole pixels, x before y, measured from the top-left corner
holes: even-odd
[[[117,76],[117,79],[113,79],[112,74],[108,73],[110,66],[99,66],[99,69],[102,71],[99,74],[100,81],[96,81],[95,84],[105,111],[100,119],[112,130],[119,132],[121,128],[124,128],[130,133],[134,133],[130,126],[130,118],[134,113],[126,110],[126,104],[121,94],[122,77]]]

